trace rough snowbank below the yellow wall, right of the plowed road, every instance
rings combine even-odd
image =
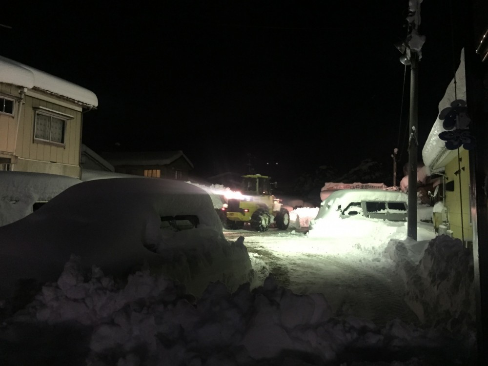
[[[392,240],[386,253],[405,281],[407,304],[424,325],[444,324],[460,333],[475,329],[473,253],[461,240]]]

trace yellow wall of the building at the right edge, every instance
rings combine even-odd
[[[445,174],[446,183],[454,182],[454,191],[446,191],[449,229],[452,230],[452,236],[454,238],[462,240],[464,236],[465,242],[472,241],[473,228],[471,224],[469,195],[469,155],[467,150],[464,148],[459,149],[459,159],[456,157],[446,165]]]

